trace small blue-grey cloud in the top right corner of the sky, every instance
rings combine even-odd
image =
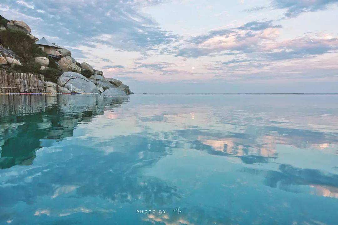
[[[272,5],[278,9],[286,9],[286,17],[297,17],[303,12],[314,12],[326,9],[330,4],[338,0],[273,0]]]

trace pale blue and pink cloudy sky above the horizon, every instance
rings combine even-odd
[[[338,92],[338,0],[2,0],[135,93]]]

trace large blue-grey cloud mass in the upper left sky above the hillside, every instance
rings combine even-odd
[[[157,45],[170,44],[178,38],[140,12],[141,7],[162,2],[36,0],[32,5],[24,1],[13,3],[5,0],[4,5],[10,6],[6,14],[8,19],[11,19],[11,12],[14,11],[25,13],[30,17],[44,11],[45,13],[39,13],[42,19],[39,26],[32,23],[28,25],[31,26],[33,34],[58,36],[60,45],[95,46],[104,43],[124,51],[146,51]],[[106,35],[107,38],[102,39],[102,35]]]

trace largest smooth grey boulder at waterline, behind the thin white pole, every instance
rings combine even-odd
[[[70,76],[72,80],[70,80]],[[99,90],[93,82],[83,75],[75,72],[65,72],[58,79],[57,84],[72,90],[73,93],[95,93],[99,94]]]

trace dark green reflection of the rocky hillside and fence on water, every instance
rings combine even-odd
[[[105,107],[128,101],[129,96],[1,95],[0,168],[31,165],[39,148],[71,137],[78,123],[102,115]]]

